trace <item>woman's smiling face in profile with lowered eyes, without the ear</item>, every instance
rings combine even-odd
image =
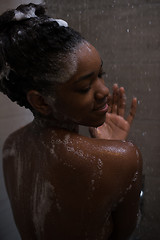
[[[60,121],[97,127],[105,121],[108,108],[102,60],[87,42],[77,47],[76,57],[77,71],[56,88],[53,114]]]

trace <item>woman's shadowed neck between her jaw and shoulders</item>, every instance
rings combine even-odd
[[[79,132],[79,125],[73,122],[59,121],[54,118],[35,116],[34,125],[39,128],[61,128],[70,132]]]

